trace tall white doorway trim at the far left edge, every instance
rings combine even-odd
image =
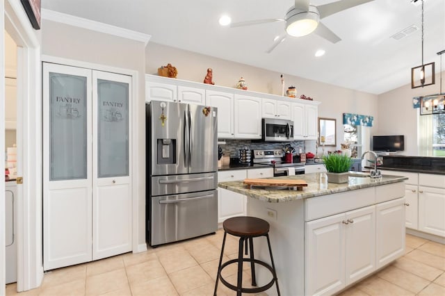
[[[17,290],[29,290],[40,286],[42,268],[42,128],[40,108],[40,44],[22,3],[16,0],[2,1],[0,6],[1,35],[4,29],[16,42],[17,50],[17,173],[24,183],[17,186]],[[3,19],[4,16],[4,19]],[[1,42],[4,48],[3,42]],[[3,57],[1,58],[3,60]],[[1,70],[3,73],[4,69]],[[1,75],[4,76],[4,73]],[[1,79],[3,81],[3,79]],[[3,86],[0,87],[3,89]],[[2,92],[3,93],[3,92]],[[4,116],[0,116],[4,120]],[[4,130],[0,135],[4,137]],[[0,163],[3,170],[4,161]],[[3,195],[4,190],[0,192]],[[1,206],[4,211],[4,206]],[[4,225],[4,224],[3,224]],[[3,236],[2,236],[3,237]],[[2,244],[4,246],[4,243]],[[4,247],[3,254],[4,254]],[[4,272],[4,261],[1,259]],[[4,294],[4,277],[0,279],[0,294]]]

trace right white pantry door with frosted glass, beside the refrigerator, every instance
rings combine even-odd
[[[131,76],[92,72],[92,260],[130,252]]]

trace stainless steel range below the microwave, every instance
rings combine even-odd
[[[273,176],[287,176],[289,168],[291,168],[290,171],[295,170],[295,174],[305,174],[305,162],[284,162],[284,152],[280,149],[254,150],[253,155],[254,164],[273,167]]]

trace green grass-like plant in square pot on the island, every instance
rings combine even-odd
[[[327,170],[327,181],[330,183],[347,183],[348,170],[354,161],[349,156],[332,153],[323,155],[323,162]]]

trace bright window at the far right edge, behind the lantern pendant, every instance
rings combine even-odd
[[[419,154],[445,156],[445,113],[419,115]]]

